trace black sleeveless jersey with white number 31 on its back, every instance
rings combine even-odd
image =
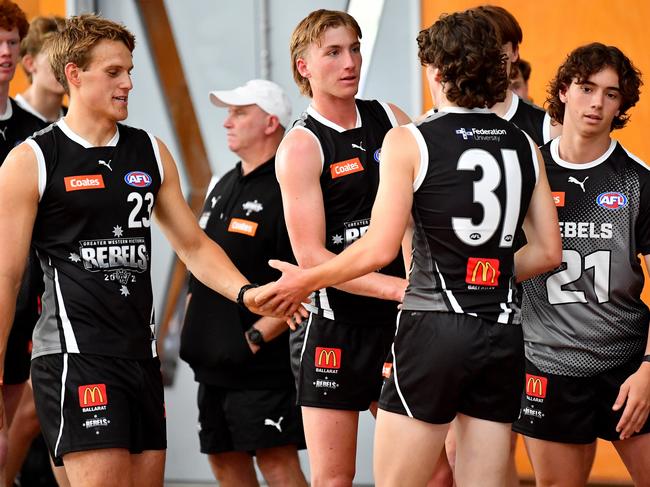
[[[447,108],[407,127],[420,166],[402,308],[520,323],[513,244],[537,183],[534,143],[484,109]]]

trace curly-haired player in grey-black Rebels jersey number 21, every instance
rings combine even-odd
[[[639,100],[640,73],[616,47],[569,54],[551,82],[563,134],[542,148],[562,233],[562,265],[524,282],[526,389],[514,429],[537,485],[585,485],[596,438],[635,485],[650,485],[650,172],[611,139]]]

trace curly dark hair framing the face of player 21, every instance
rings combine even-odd
[[[632,64],[632,61],[615,46],[606,46],[600,42],[587,44],[573,50],[566,61],[557,70],[555,78],[551,80],[546,98],[548,114],[556,122],[564,122],[564,103],[560,100],[560,93],[564,93],[572,82],[585,83],[589,76],[605,68],[612,68],[618,74],[618,87],[621,93],[621,107],[610,130],[625,127],[630,119],[627,111],[639,101],[641,72]]]

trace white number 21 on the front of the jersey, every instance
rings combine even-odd
[[[586,303],[584,291],[568,291],[563,289],[563,286],[576,282],[588,269],[593,269],[594,293],[598,303],[609,301],[610,254],[609,250],[598,250],[585,256],[583,261],[577,250],[563,250],[562,262],[566,264],[566,269],[552,274],[546,280],[548,302],[551,304]]]

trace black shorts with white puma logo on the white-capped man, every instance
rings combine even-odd
[[[285,389],[224,389],[199,384],[201,453],[248,452],[295,445],[305,448],[293,386]]]

